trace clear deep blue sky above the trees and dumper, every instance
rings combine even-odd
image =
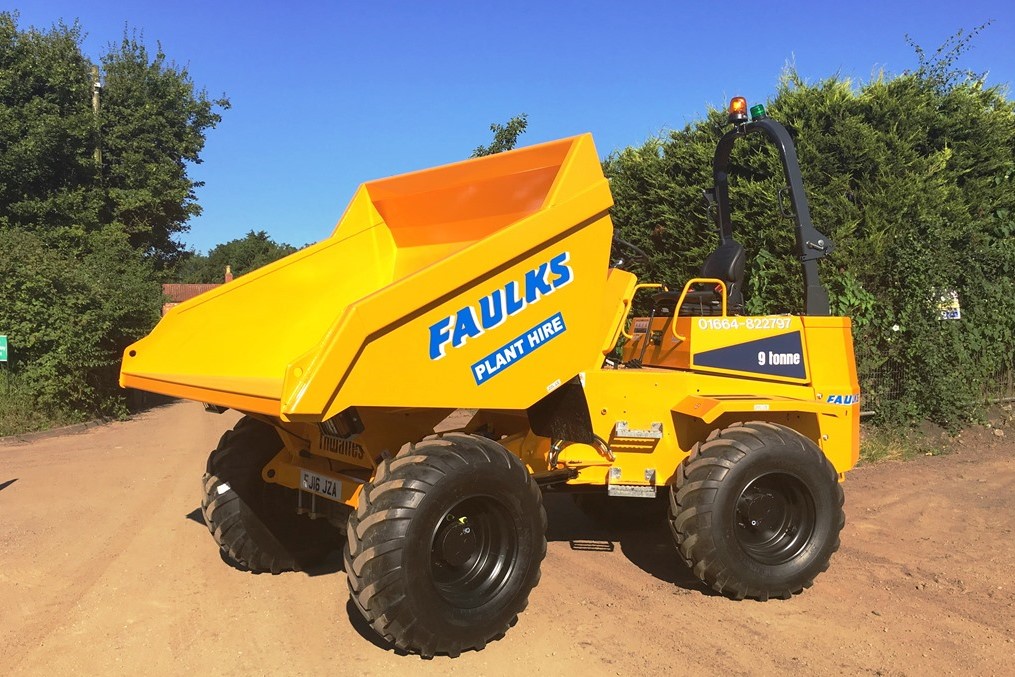
[[[232,108],[208,133],[199,251],[267,230],[329,234],[363,181],[467,157],[489,125],[529,115],[524,145],[591,131],[638,144],[709,106],[774,92],[787,63],[814,81],[869,80],[917,64],[989,19],[959,63],[1015,80],[1015,3],[430,0],[110,2],[22,0],[20,25],[79,19],[97,61],[125,25],[159,42]],[[1009,94],[1011,95],[1011,94]]]

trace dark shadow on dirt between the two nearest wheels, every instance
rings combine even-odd
[[[718,595],[680,559],[665,518],[632,522],[629,526],[602,524],[585,515],[571,496],[563,493],[544,494],[543,505],[547,541],[568,542],[571,550],[588,552],[590,560],[619,547],[628,561],[660,581],[708,597]]]

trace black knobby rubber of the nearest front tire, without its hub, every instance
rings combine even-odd
[[[504,595],[459,608],[431,594],[436,584],[426,558],[442,521],[433,517],[477,492],[512,506],[520,555],[500,588]],[[481,436],[427,437],[382,461],[360,493],[346,530],[350,597],[374,630],[401,651],[429,658],[481,650],[526,608],[539,583],[545,532],[542,495],[518,458]]]

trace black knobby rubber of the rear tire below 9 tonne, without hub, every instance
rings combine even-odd
[[[751,476],[784,470],[806,479],[817,524],[813,542],[800,556],[765,565],[737,546],[735,527],[721,524],[717,514],[732,515],[730,501]],[[812,441],[773,423],[736,423],[695,445],[678,468],[670,492],[670,529],[684,563],[713,590],[736,600],[789,599],[828,568],[845,524],[843,500],[835,470]]]

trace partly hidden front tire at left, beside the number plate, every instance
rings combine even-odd
[[[326,520],[296,515],[293,489],[261,477],[281,450],[274,427],[244,417],[208,457],[202,481],[208,530],[228,559],[255,573],[302,570],[342,542]]]

